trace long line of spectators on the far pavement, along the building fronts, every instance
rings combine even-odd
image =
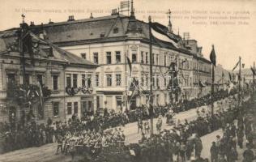
[[[224,98],[227,95],[226,92],[217,92],[215,94],[215,100]],[[201,105],[202,100],[207,100],[207,97],[203,99],[195,99],[190,102],[196,103],[196,105]],[[188,102],[184,101],[181,105],[186,105]],[[177,105],[178,107],[178,105]],[[166,106],[156,106],[154,107],[154,117],[159,115],[164,116],[169,109],[174,109],[175,107]],[[190,107],[190,109],[195,107]],[[175,110],[175,109],[174,109]],[[183,111],[180,109],[179,111]],[[139,107],[135,111],[125,111],[124,113],[115,113],[113,111],[108,111],[104,109],[104,114],[95,113],[93,115],[84,115],[79,120],[77,117],[72,117],[68,122],[53,122],[50,118],[46,124],[38,124],[33,119],[32,112],[29,112],[29,117],[21,117],[19,122],[11,123],[0,123],[0,134],[2,151],[13,151],[25,147],[40,147],[45,143],[53,143],[56,141],[59,132],[66,132],[67,130],[96,130],[102,131],[110,127],[125,126],[129,122],[138,122],[139,119],[148,119],[149,115],[147,113],[146,107]],[[24,118],[27,118],[26,120]],[[26,121],[26,122],[25,122]],[[75,124],[72,124],[75,123]],[[146,123],[147,124],[147,123]],[[147,131],[149,127],[147,125]],[[65,133],[61,133],[64,135]]]

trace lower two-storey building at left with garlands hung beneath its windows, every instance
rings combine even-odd
[[[82,117],[93,111],[96,92],[89,88],[79,91],[79,87],[94,86],[85,78],[95,75],[97,65],[31,31],[27,32],[31,49],[23,45],[23,58],[19,32],[17,28],[0,34],[0,122],[29,116],[42,122],[48,117],[67,121],[72,114]]]

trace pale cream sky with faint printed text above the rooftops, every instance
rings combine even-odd
[[[19,27],[24,14],[25,22],[35,24],[87,19],[110,15],[120,7],[120,0],[0,0],[0,31]],[[203,56],[209,58],[215,46],[217,64],[231,70],[239,56],[245,68],[256,62],[256,1],[254,0],[134,0],[136,19],[168,25],[166,14],[172,11],[173,32],[183,37],[190,32],[190,39],[203,46]],[[123,15],[127,15],[127,11]]]

